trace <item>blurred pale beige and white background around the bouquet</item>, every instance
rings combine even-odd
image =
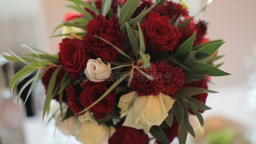
[[[191,15],[195,15],[207,0],[185,1],[190,6]],[[256,143],[256,16],[254,11],[256,1],[208,0],[208,2],[212,3],[197,19],[209,22],[208,38],[227,41],[219,50],[220,55],[225,55],[219,60],[225,61],[220,69],[232,75],[212,77],[215,85],[210,84],[209,89],[220,93],[209,94],[206,104],[213,109],[204,112],[206,125],[204,130],[198,129],[198,133],[201,132],[202,136],[197,139],[196,143],[205,143],[206,138],[214,141],[217,137],[223,139],[223,144],[253,144]],[[20,48],[22,43],[48,53],[58,52],[61,38],[49,38],[49,36],[52,35],[52,31],[60,24],[60,21],[64,20],[65,14],[72,12],[64,8],[66,4],[68,2],[63,0],[1,0],[0,52],[8,52],[6,48],[9,48],[14,53],[22,55]],[[3,58],[0,57],[1,60]],[[5,73],[10,71],[6,65],[2,66],[3,64],[0,63],[3,71]],[[20,64],[14,64],[14,70],[21,67]],[[9,77],[11,76],[10,71]],[[4,86],[7,82],[4,79],[8,81],[8,76],[1,77],[0,89],[3,89],[2,95],[6,96],[8,92],[5,91]],[[11,118],[13,116],[17,127],[20,126],[20,131],[16,132],[17,141],[23,140],[26,144],[75,143],[73,137],[63,136],[58,130],[54,137],[54,124],[46,124],[45,121],[43,123],[41,110],[44,90],[42,87],[42,84],[37,84],[37,89],[32,93],[32,100],[27,101],[28,103],[33,101],[33,105],[31,108],[27,106],[27,110],[22,109],[25,107],[23,104],[20,104],[21,109],[0,104],[0,141],[3,136],[8,137],[8,133],[3,132],[8,126],[1,125],[1,119],[3,123],[3,116],[6,114],[2,111],[14,108],[20,116],[6,115]],[[34,109],[34,111],[28,109]],[[29,117],[19,119],[23,115]],[[188,143],[195,143],[195,140],[189,139]]]

